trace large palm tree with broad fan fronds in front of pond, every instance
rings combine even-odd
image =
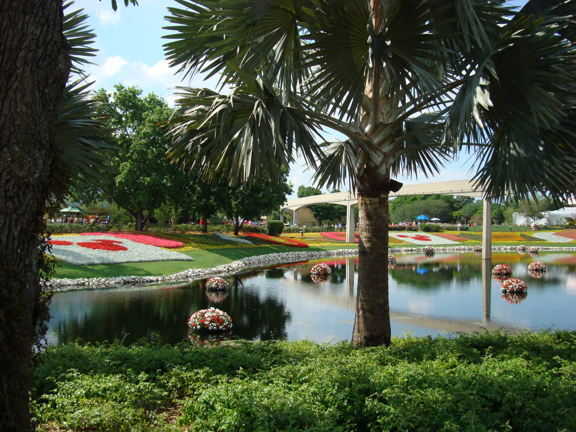
[[[392,177],[465,151],[490,198],[574,191],[573,0],[176,1],[170,66],[232,90],[177,89],[169,156],[250,184],[301,154],[319,185],[357,192],[354,344],[390,343]]]

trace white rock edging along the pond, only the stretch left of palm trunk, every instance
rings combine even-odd
[[[80,290],[90,288],[109,288],[123,285],[149,285],[151,283],[194,281],[209,276],[226,276],[247,268],[262,267],[274,264],[295,263],[298,261],[331,256],[358,255],[358,249],[337,249],[335,251],[317,252],[282,252],[267,253],[266,255],[248,256],[229,264],[212,268],[190,268],[172,275],[162,276],[118,276],[117,278],[79,278],[79,279],[50,279],[47,285],[54,291]]]

